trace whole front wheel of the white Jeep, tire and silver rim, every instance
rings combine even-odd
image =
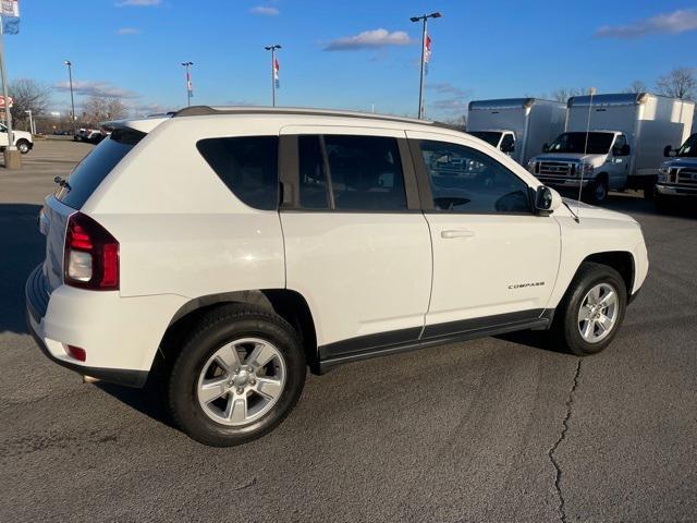
[[[577,356],[602,351],[616,336],[626,303],[626,284],[616,270],[584,263],[557,311],[552,341]]]

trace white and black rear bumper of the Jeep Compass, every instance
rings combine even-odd
[[[61,285],[50,296],[41,266],[25,285],[26,319],[39,349],[51,361],[84,376],[129,387],[143,387],[170,319],[186,301],[182,296],[121,297]],[[86,351],[71,357],[65,345]]]

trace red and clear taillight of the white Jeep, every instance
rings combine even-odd
[[[68,221],[63,281],[95,291],[119,290],[119,242],[82,212]]]

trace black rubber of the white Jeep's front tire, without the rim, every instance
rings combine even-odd
[[[596,285],[607,283],[613,288],[617,295],[617,317],[606,338],[596,343],[587,342],[578,327],[578,312],[586,294]],[[577,356],[596,354],[608,346],[624,319],[627,304],[626,283],[620,273],[607,265],[586,262],[582,264],[574,276],[564,299],[554,314],[554,321],[550,329],[550,338],[553,346],[565,349]]]

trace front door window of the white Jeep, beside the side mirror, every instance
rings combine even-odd
[[[531,212],[528,185],[490,156],[458,144],[420,142],[438,210]]]

